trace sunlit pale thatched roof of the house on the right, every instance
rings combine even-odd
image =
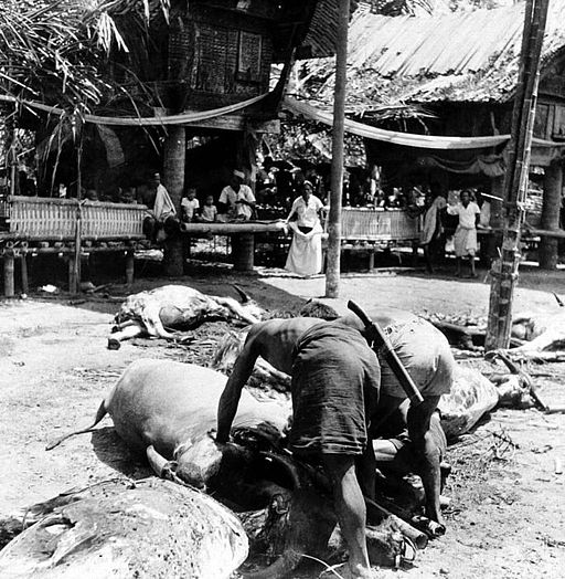
[[[443,17],[395,17],[361,6],[350,25],[348,108],[391,103],[510,99],[518,80],[524,3]],[[542,62],[565,48],[565,0],[551,0]],[[297,64],[310,98],[333,98],[333,59]]]

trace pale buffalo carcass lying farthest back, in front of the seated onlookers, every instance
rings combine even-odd
[[[234,285],[242,302],[233,297],[207,295],[185,285],[164,285],[132,294],[121,304],[114,320],[108,348],[118,349],[120,341],[149,335],[174,338],[170,329],[188,329],[212,318],[259,322],[265,310]]]

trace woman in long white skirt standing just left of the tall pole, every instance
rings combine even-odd
[[[320,212],[323,203],[312,194],[313,186],[310,181],[305,180],[300,188],[301,194],[295,199],[287,218],[292,230],[292,243],[285,269],[300,275],[313,275],[322,271],[323,230]]]

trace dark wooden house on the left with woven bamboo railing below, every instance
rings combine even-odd
[[[139,186],[157,171],[162,173],[177,206],[185,183],[196,186],[201,196],[213,192],[217,197],[234,168],[244,169],[253,185],[257,135],[278,130],[278,110],[290,64],[300,53],[329,55],[334,51],[340,2],[172,0],[168,21],[159,2],[149,6],[152,12],[147,30],[128,20],[131,13],[127,7],[115,14],[129,50],[116,48],[109,55],[103,72],[113,78],[114,91],[105,95],[96,110],[84,116],[81,180],[70,127],[63,127],[53,139],[53,127],[45,123],[45,118],[57,118],[57,103],[28,103],[31,109],[46,108],[53,114],[41,117],[36,112],[23,113],[20,119],[20,126],[36,133],[41,162],[57,168],[54,178],[43,171],[40,194],[49,196],[52,185],[58,191],[61,182],[76,197],[82,182],[85,190],[96,190],[104,201],[116,201],[120,189]],[[275,62],[286,67],[271,90]],[[50,105],[55,108],[50,109]],[[30,252],[68,255],[74,276],[70,285],[76,285],[76,261],[84,249],[77,207],[83,208],[76,199],[38,203],[12,197],[2,202],[0,256],[8,280],[7,295],[14,291],[14,257],[21,257],[22,280],[26,280],[25,255]],[[139,211],[130,208],[116,209],[98,201],[90,208],[87,203],[82,223],[89,253],[96,249],[127,252],[128,278],[132,275],[132,252],[142,238],[143,213],[139,206]],[[226,234],[236,234],[232,229]],[[241,231],[244,229],[242,225]],[[246,235],[246,243],[238,244],[246,248],[246,259],[239,260],[243,269],[253,265],[249,228]],[[52,240],[56,240],[57,248],[50,246]],[[23,253],[14,250],[14,243],[24,244]],[[182,274],[179,246],[168,246],[166,254],[174,257],[166,260],[167,273]]]

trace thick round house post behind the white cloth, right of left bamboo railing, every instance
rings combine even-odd
[[[163,182],[180,214],[184,190],[184,161],[186,156],[186,135],[184,127],[168,128],[169,135],[163,148]],[[184,270],[183,239],[179,233],[169,236],[164,245],[163,266],[169,277],[180,277]]]

